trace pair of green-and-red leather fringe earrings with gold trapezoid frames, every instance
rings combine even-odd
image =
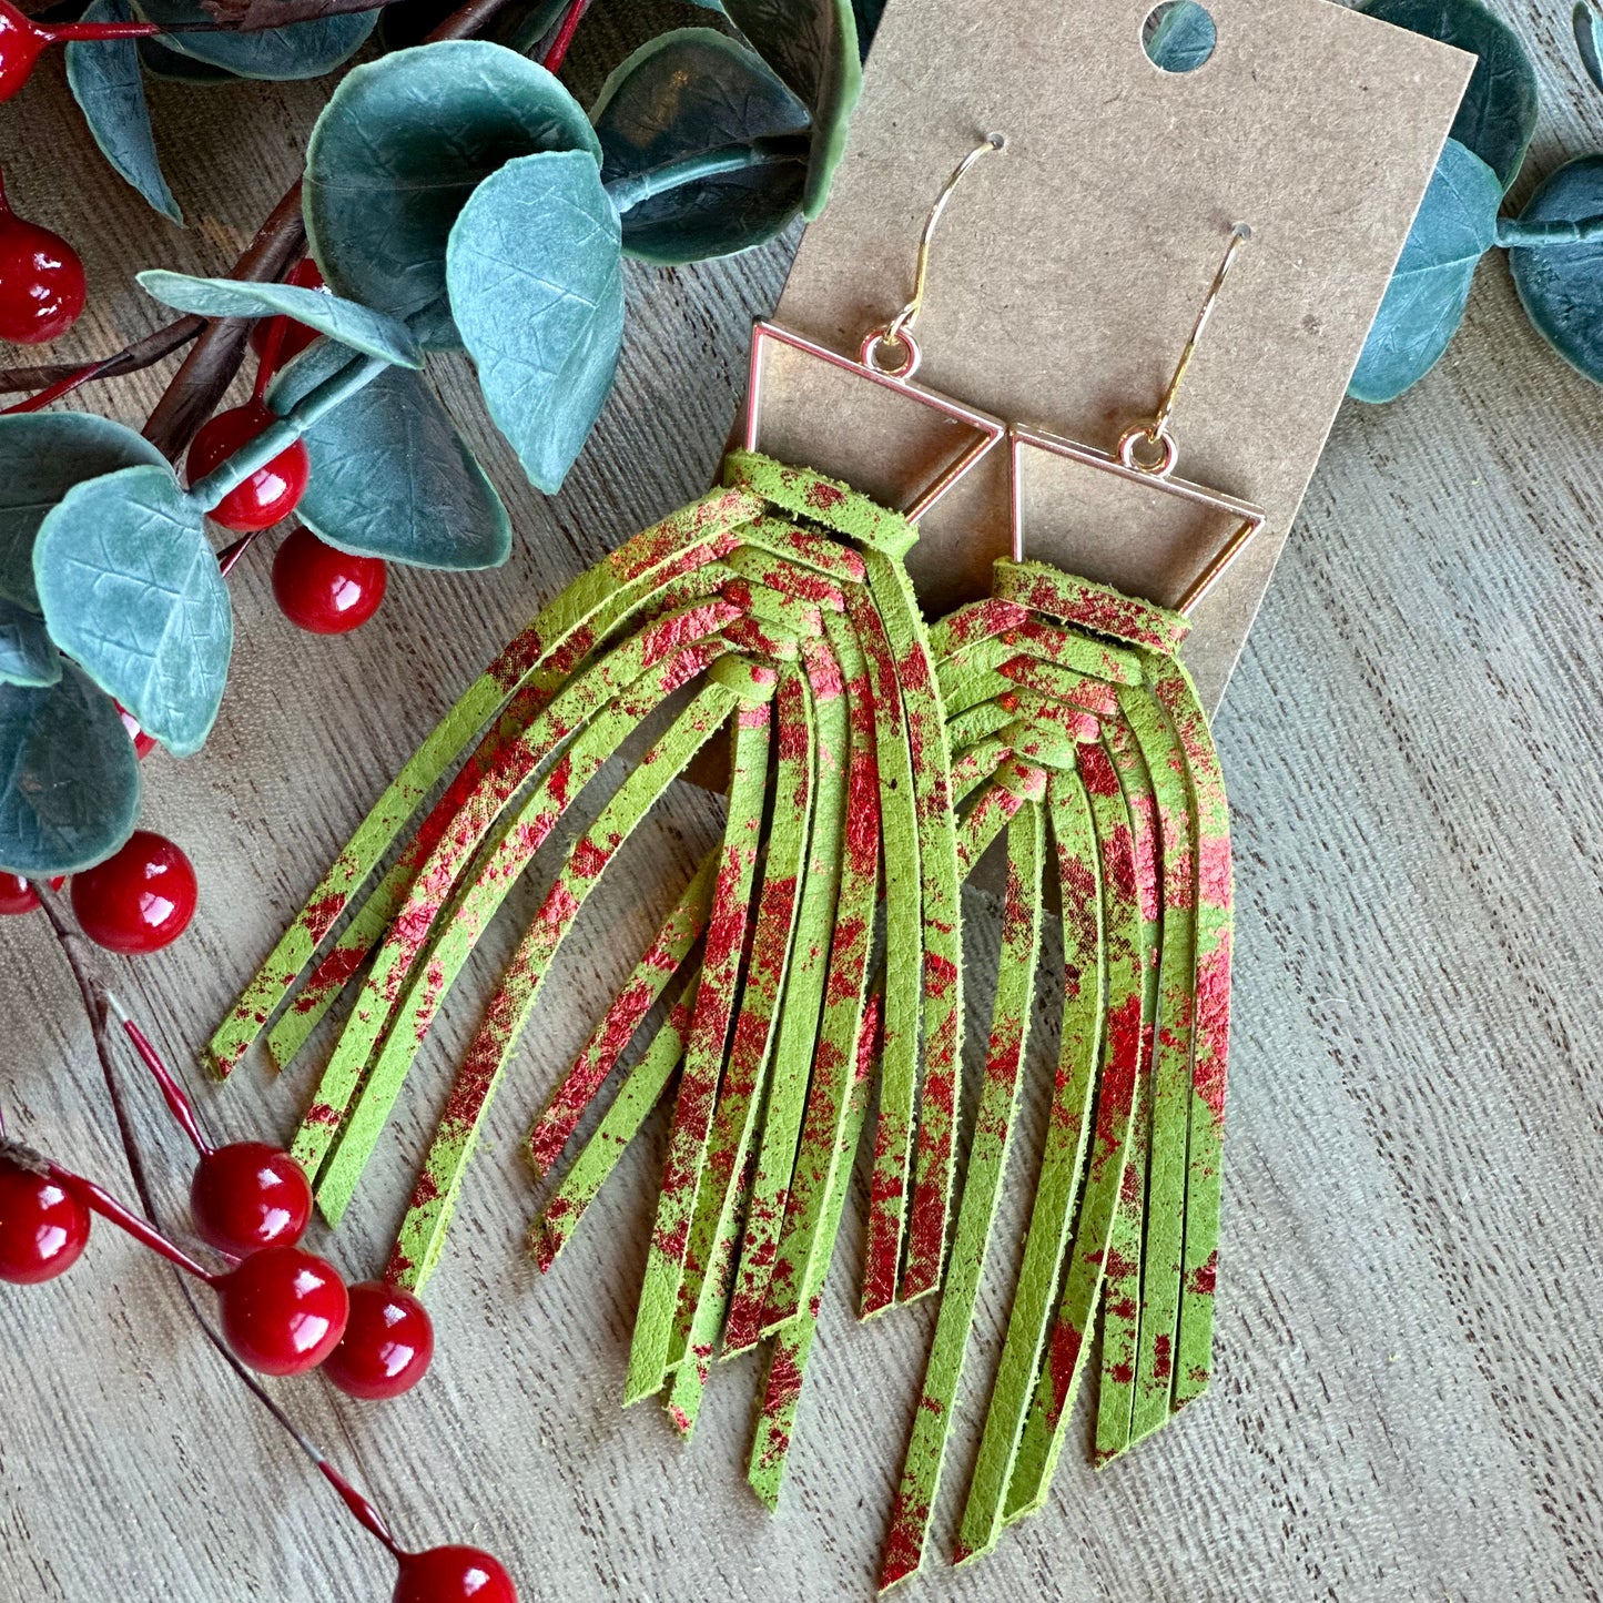
[[[567,846],[460,1064],[388,1268],[420,1289],[563,941],[670,782],[726,734],[723,837],[529,1133],[545,1180],[614,1087],[531,1247],[550,1268],[624,1148],[670,1103],[625,1401],[667,1393],[688,1435],[715,1353],[766,1342],[749,1478],[773,1507],[877,1100],[862,1313],[946,1281],[886,1585],[922,1561],[1008,1162],[1047,872],[1063,902],[1063,1034],[959,1557],[1044,1502],[1098,1313],[1100,1454],[1196,1396],[1212,1348],[1230,845],[1207,721],[1175,657],[1183,619],[1021,561],[1016,529],[991,600],[930,632],[902,558],[917,516],[1003,438],[1016,513],[1024,449],[1242,511],[1189,600],[1258,515],[1172,478],[1169,407],[1196,333],[1154,422],[1111,455],[1008,430],[914,382],[930,234],[951,188],[995,147],[949,180],[914,300],[858,361],[758,324],[749,449],[728,458],[723,486],[574,580],[502,652],[375,803],[208,1048],[226,1076],[279,1013],[268,1048],[285,1066],[367,965],[293,1145],[337,1223],[502,901],[579,798],[606,789],[628,742],[646,744]],[[758,454],[773,340],[936,407],[975,444],[907,513]],[[1002,834],[1000,983],[947,1250],[960,885]]]

